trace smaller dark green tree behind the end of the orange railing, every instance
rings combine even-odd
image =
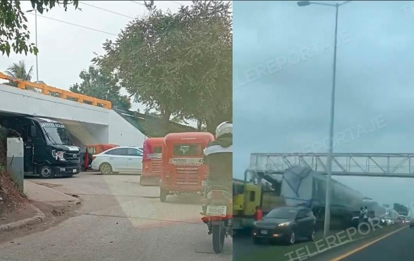
[[[82,82],[73,84],[69,88],[71,92],[108,100],[112,106],[117,106],[119,109],[129,110],[131,108],[130,99],[120,94],[121,88],[116,84],[117,78],[102,68],[90,66],[88,71],[83,70],[79,77]]]

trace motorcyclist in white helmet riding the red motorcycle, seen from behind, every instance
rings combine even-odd
[[[225,121],[216,128],[216,140],[203,151],[209,167],[209,175],[204,187],[204,198],[211,186],[226,187],[232,191],[233,178],[233,123]],[[203,206],[203,212],[205,212]]]

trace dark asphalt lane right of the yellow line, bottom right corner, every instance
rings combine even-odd
[[[343,261],[411,261],[414,260],[414,229],[404,228],[355,254]]]

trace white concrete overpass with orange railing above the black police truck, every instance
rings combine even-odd
[[[142,131],[111,110],[108,101],[12,79],[1,73],[0,78],[17,85],[0,82],[0,115],[32,115],[62,122],[81,148],[97,143],[141,147],[144,142]]]

